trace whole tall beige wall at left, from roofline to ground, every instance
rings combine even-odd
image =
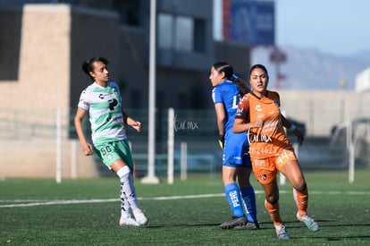
[[[9,64],[17,67],[16,74],[6,77],[12,80],[0,78],[0,177],[55,177],[57,109],[63,125],[63,177],[71,177],[71,7],[26,4],[4,13],[9,14],[0,14],[0,23],[15,20],[18,30],[6,33],[11,25],[1,25],[1,32],[11,36],[2,35],[1,49],[18,49],[19,61]],[[17,33],[21,38],[12,42]],[[78,175],[97,176],[93,158],[82,158],[79,147]]]

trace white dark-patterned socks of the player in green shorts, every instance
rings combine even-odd
[[[123,166],[117,171],[117,175],[121,181],[121,216],[130,216],[130,208],[132,210],[139,208],[130,167]]]

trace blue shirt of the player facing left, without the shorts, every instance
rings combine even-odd
[[[212,99],[214,105],[222,103],[225,108],[225,136],[229,131],[232,131],[234,118],[240,101],[239,90],[236,84],[232,81],[223,81],[221,84],[214,87],[212,90]]]

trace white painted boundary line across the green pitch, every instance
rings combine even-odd
[[[256,194],[263,194],[263,191],[255,191]],[[291,193],[291,191],[280,191],[281,194]],[[310,194],[325,194],[325,195],[366,195],[370,196],[370,191],[309,191]],[[169,200],[169,199],[203,199],[224,197],[224,193],[219,194],[201,194],[201,195],[184,195],[184,196],[168,196],[154,198],[138,198],[139,200]],[[36,207],[48,205],[68,205],[81,203],[99,203],[99,202],[117,202],[117,199],[15,199],[15,200],[0,200],[0,203],[13,202],[13,204],[0,205],[0,208],[20,208],[20,207]],[[15,202],[15,203],[14,203]]]

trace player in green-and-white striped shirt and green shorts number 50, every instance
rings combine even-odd
[[[107,64],[108,61],[101,57],[91,58],[82,64],[82,70],[93,83],[81,92],[74,124],[85,156],[96,153],[120,178],[122,205],[119,224],[146,225],[147,216],[139,208],[133,184],[133,162],[125,130],[127,124],[139,132],[141,123],[122,110],[120,89],[114,81],[109,81]],[[83,131],[85,115],[88,115],[91,124],[93,145]]]

